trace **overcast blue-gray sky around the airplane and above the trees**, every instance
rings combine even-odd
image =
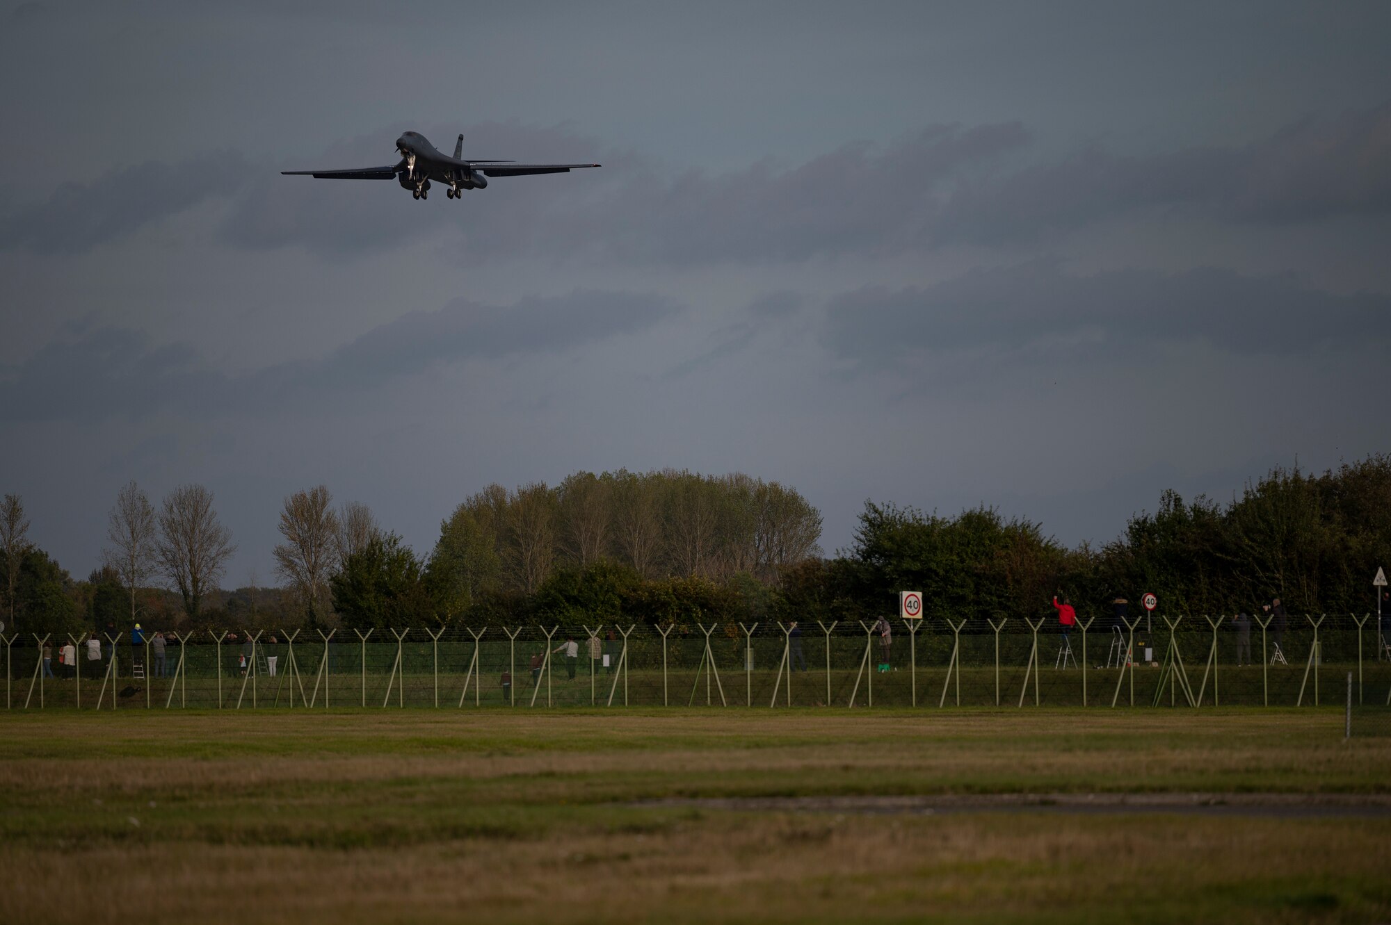
[[[417,550],[490,482],[744,471],[1066,543],[1391,449],[1385,3],[0,8],[0,490],[77,575],[203,482]],[[597,160],[460,203],[281,176]]]

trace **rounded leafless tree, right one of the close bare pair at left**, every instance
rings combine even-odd
[[[159,557],[164,575],[184,597],[184,612],[198,617],[203,596],[217,586],[236,547],[232,533],[213,511],[213,493],[182,485],[164,499],[159,515]]]

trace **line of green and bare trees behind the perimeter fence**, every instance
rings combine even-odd
[[[7,632],[159,615],[179,626],[481,625],[530,619],[874,619],[896,593],[928,617],[1079,614],[1116,597],[1166,612],[1230,614],[1281,597],[1291,612],[1374,610],[1391,564],[1391,456],[1323,474],[1276,468],[1223,504],[1164,492],[1114,540],[1067,547],[992,507],[957,515],[867,501],[853,543],[826,557],[821,514],[794,489],[743,474],[577,472],[559,485],[490,485],[444,518],[428,554],[324,486],[295,492],[273,550],[281,588],[218,588],[235,551],[211,493],[159,507],[132,482],[108,515],[103,567],[74,582],[0,504]],[[211,601],[211,607],[209,607]]]

